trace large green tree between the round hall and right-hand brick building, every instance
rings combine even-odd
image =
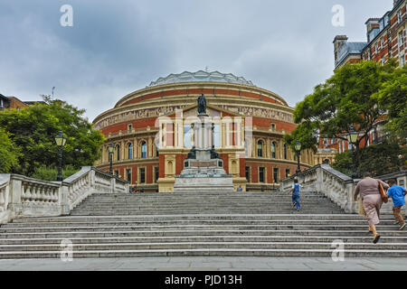
[[[299,138],[303,148],[316,148],[317,136],[346,140],[350,126],[359,132],[356,148],[383,117],[386,107],[377,102],[376,94],[383,83],[394,77],[396,64],[388,61],[384,66],[374,61],[347,64],[314,93],[299,102],[294,111],[298,124],[285,141],[294,146]]]

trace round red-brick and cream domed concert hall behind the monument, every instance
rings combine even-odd
[[[296,172],[297,154],[282,139],[296,127],[294,109],[242,77],[203,70],[159,78],[96,117],[94,128],[107,141],[95,166],[109,172],[111,157],[112,172],[137,191],[173,191],[194,145],[191,124],[201,95],[214,123],[215,150],[235,188],[275,190],[279,180]],[[313,152],[301,151],[301,170],[312,165]]]

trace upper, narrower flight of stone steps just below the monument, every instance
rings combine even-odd
[[[316,192],[301,194],[301,213],[344,213]],[[199,192],[94,194],[71,212],[75,216],[156,214],[295,214],[291,196],[281,192]]]

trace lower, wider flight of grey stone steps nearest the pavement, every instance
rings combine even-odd
[[[372,243],[358,215],[150,215],[15,219],[0,227],[0,258],[131,256],[407,256],[407,230],[390,216]]]

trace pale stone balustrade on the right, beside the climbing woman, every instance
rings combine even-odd
[[[289,191],[294,184],[294,178],[298,178],[303,191],[317,191],[324,193],[328,199],[335,202],[346,213],[357,213],[358,202],[354,200],[355,183],[358,180],[346,176],[342,172],[337,172],[327,163],[316,166],[293,175],[280,182],[280,191]],[[354,182],[355,181],[355,182]]]

